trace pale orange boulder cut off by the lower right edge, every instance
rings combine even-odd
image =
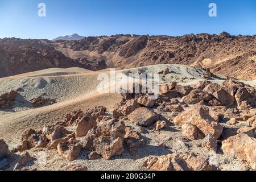
[[[256,169],[256,139],[246,134],[237,134],[222,142],[222,151],[230,158],[244,161]]]

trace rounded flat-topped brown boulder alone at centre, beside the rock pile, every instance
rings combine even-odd
[[[158,114],[146,107],[139,107],[129,115],[129,119],[138,126],[150,126],[158,121]]]

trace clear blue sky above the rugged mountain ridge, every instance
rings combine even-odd
[[[39,18],[38,4],[47,16]],[[209,17],[209,3],[217,17]],[[184,35],[256,34],[255,0],[0,0],[0,38],[53,39],[77,33]]]

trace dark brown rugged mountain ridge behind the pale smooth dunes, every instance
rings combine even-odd
[[[256,36],[113,35],[81,40],[0,39],[0,77],[47,68],[136,68],[183,64],[216,74],[256,80]]]

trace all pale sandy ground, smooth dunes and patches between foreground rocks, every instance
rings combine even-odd
[[[208,74],[201,69],[183,65],[152,65],[143,68],[116,70],[115,74],[119,73],[122,78],[117,80],[115,84],[126,82],[128,77],[133,77],[136,80],[139,76],[138,72],[150,75],[150,73],[158,73],[166,68],[169,68],[171,73],[160,75],[159,82],[161,83],[176,81],[178,84],[183,85],[196,84],[200,80],[205,80],[204,76]],[[45,125],[63,121],[65,115],[73,110],[86,110],[95,106],[105,106],[109,111],[112,111],[114,104],[120,102],[122,98],[118,93],[101,94],[97,92],[97,86],[100,82],[97,77],[100,73],[110,76],[110,69],[93,72],[82,68],[53,68],[1,78],[0,94],[11,90],[19,90],[19,94],[13,109],[0,110],[0,138],[4,139],[10,148],[14,148],[20,143],[20,136],[24,130],[30,128],[42,129]],[[133,75],[129,75],[131,73]],[[210,76],[209,78],[212,82],[217,82],[218,84],[224,81],[222,77]],[[256,81],[244,82],[256,85]],[[29,101],[39,96],[54,98],[57,103],[33,108]],[[126,125],[131,125],[131,123],[126,123]],[[131,126],[136,128],[134,125]],[[138,128],[136,129],[139,130]],[[176,131],[179,130],[170,125],[167,130],[161,133],[144,134],[143,137],[149,141],[149,144],[139,150],[138,154],[141,156],[168,154],[170,149],[162,150],[158,147],[160,143],[165,143],[171,148],[172,152],[193,151],[196,154],[208,155],[207,157],[219,163],[218,166],[221,166],[221,169],[240,169],[241,162],[226,158],[223,155],[209,154],[209,152],[204,154],[200,148],[195,147],[197,145],[196,142],[187,143],[180,132]],[[38,154],[36,150],[31,150],[30,152],[35,157]],[[57,155],[56,151],[47,151],[47,158],[48,163],[46,166],[40,166],[35,163],[34,167],[41,170],[57,170],[61,166],[68,164],[67,161]],[[129,154],[124,154],[122,157],[108,161],[86,160],[85,155],[72,163],[85,163],[92,170],[139,170],[143,169],[141,161],[142,158],[134,159]]]

